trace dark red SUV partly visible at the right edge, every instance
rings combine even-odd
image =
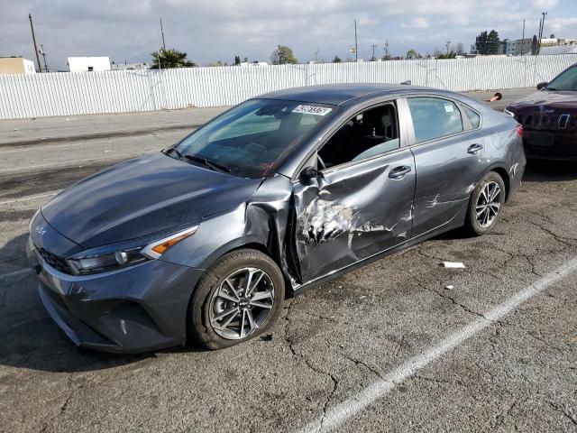
[[[527,158],[577,160],[577,64],[505,108],[523,125]]]

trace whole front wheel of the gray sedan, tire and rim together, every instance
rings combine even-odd
[[[188,339],[216,350],[258,336],[279,318],[284,293],[282,273],[268,255],[227,253],[198,281],[188,307]]]

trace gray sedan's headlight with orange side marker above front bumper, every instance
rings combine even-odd
[[[96,247],[70,257],[67,262],[76,275],[114,271],[158,259],[170,247],[194,235],[197,228],[198,226],[188,227],[160,239],[159,235],[155,238],[148,236],[134,241]]]

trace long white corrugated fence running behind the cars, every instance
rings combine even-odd
[[[0,119],[230,106],[281,88],[412,84],[465,91],[522,88],[554,78],[577,54],[0,75]]]

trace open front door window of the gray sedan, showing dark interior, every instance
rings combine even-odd
[[[388,103],[354,115],[318,152],[325,168],[398,149],[397,108]]]

